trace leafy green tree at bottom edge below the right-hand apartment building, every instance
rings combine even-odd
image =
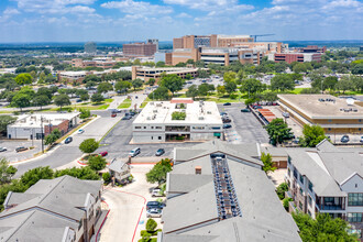
[[[348,233],[349,224],[342,219],[332,219],[329,213],[317,213],[314,220],[301,212],[293,213],[293,218],[300,230],[302,242],[356,242],[356,234]]]

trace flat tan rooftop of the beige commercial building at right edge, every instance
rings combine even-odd
[[[348,105],[346,99],[331,95],[278,95],[278,98],[310,119],[363,119],[363,107]]]

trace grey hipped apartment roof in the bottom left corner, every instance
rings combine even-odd
[[[70,176],[41,179],[25,193],[10,191],[0,213],[0,241],[62,241],[67,228],[78,230],[88,196],[98,196],[100,180]]]

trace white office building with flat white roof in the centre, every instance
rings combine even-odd
[[[185,113],[174,120],[174,112]],[[223,136],[223,123],[216,102],[189,98],[152,101],[132,124],[133,143],[207,141]]]

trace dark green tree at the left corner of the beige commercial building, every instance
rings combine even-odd
[[[280,144],[292,136],[292,129],[287,127],[283,119],[274,119],[266,125],[266,130],[273,145]]]

